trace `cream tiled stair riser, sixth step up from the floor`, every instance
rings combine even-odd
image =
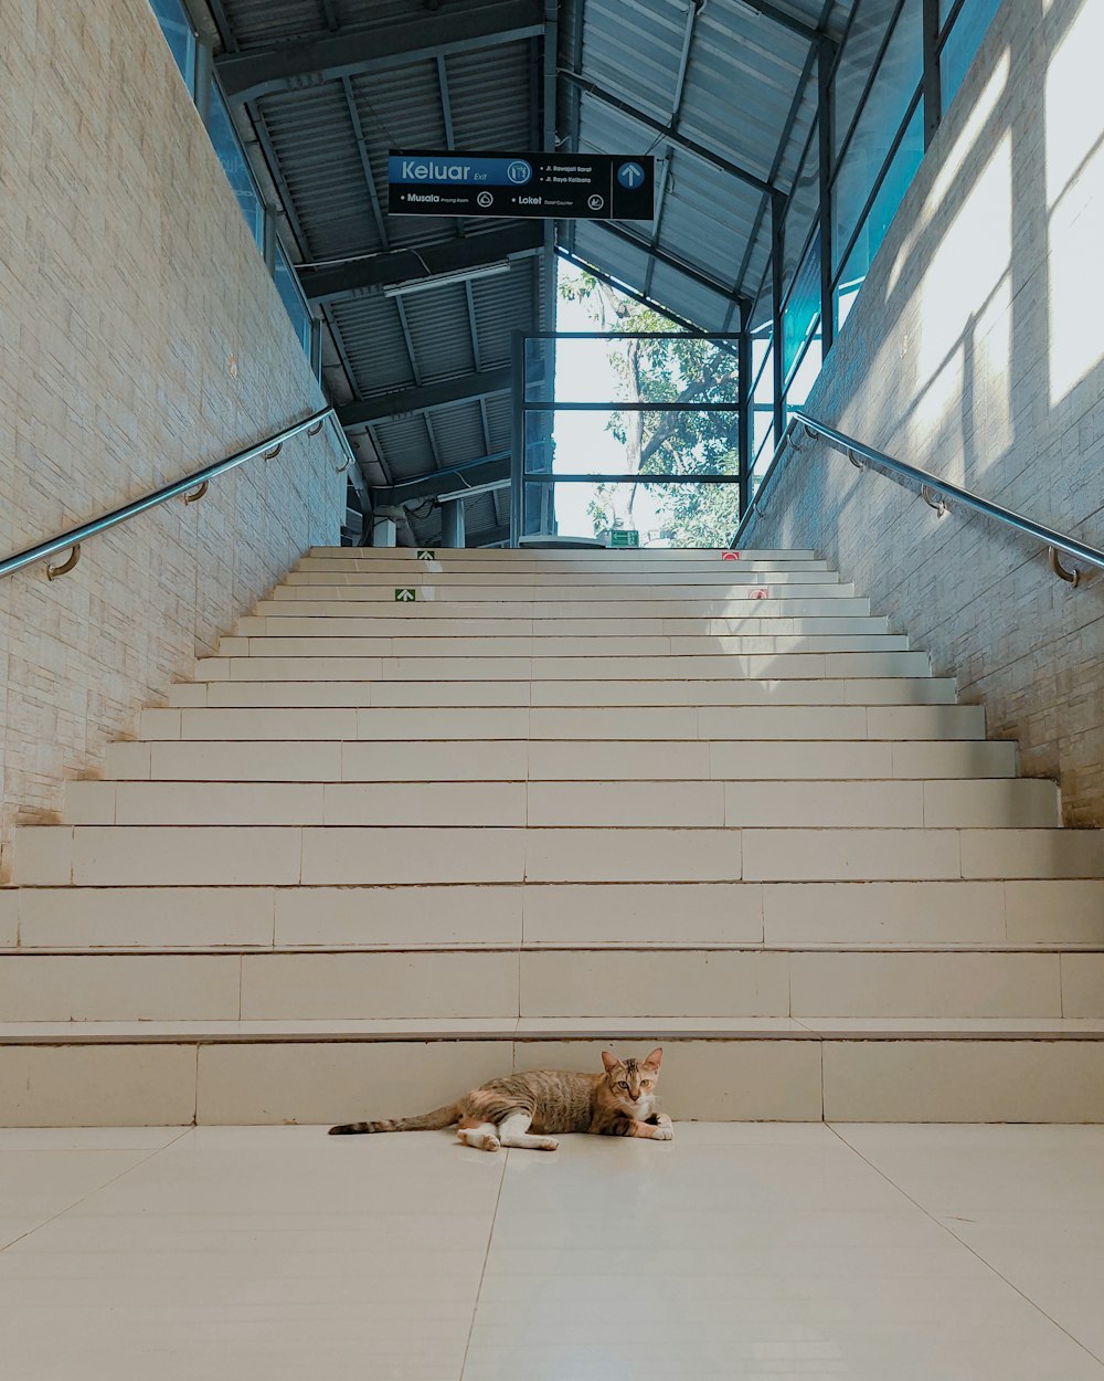
[[[155,782],[960,780],[1013,778],[1016,751],[1014,743],[984,739],[166,739],[113,743],[105,775]],[[84,793],[86,783],[69,790]]]

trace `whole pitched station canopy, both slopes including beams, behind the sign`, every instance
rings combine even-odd
[[[480,545],[506,536],[508,493],[491,486],[508,470],[512,334],[555,326],[559,258],[676,323],[747,325],[771,197],[810,195],[795,174],[817,52],[854,0],[204,4],[375,504],[402,507],[407,540],[425,545],[435,500],[471,489]],[[650,155],[656,217],[393,215],[392,149]]]

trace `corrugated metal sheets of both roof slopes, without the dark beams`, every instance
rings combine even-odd
[[[856,3],[771,0],[776,11],[835,37]],[[879,22],[875,11],[889,3],[864,0],[872,29]],[[217,8],[229,30],[228,47],[244,52],[294,51],[297,43],[334,32],[384,33],[411,22],[432,39],[436,10],[426,0],[219,0]],[[451,22],[486,8],[484,0],[448,0],[440,14]],[[763,191],[713,160],[792,193],[798,214],[787,261],[795,262],[816,204],[816,186],[799,177],[816,116],[814,44],[744,0],[564,0],[559,41],[560,66],[649,120],[672,124],[704,151],[701,156],[679,146],[647,120],[633,119],[631,109],[614,109],[560,81],[562,142],[609,153],[650,152],[665,181],[654,222],[564,222],[562,242],[679,318],[709,330],[736,329],[736,297],[755,297],[766,271],[770,217]],[[388,215],[386,157],[391,148],[443,149],[450,139],[473,152],[538,149],[540,101],[541,44],[530,39],[460,46],[439,61],[400,55],[382,70],[305,80],[297,90],[264,95],[250,113],[286,188],[288,221],[302,238],[299,257],[317,262],[493,239],[513,225]],[[575,123],[567,128],[564,122]],[[487,250],[493,258],[493,246]],[[555,264],[537,254],[515,261],[509,273],[475,278],[466,289],[406,294],[406,331],[396,301],[378,286],[331,300],[324,312],[334,338],[327,369],[348,376],[338,392],[370,399],[509,365],[512,333],[541,326],[553,275]],[[428,425],[421,413],[374,425],[389,478],[413,478],[509,445],[508,396],[436,406],[426,416]],[[498,500],[472,500],[469,532],[497,526],[501,511]],[[432,539],[433,523],[433,515],[417,518],[418,537]]]

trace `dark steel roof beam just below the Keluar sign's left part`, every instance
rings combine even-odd
[[[381,291],[389,283],[436,278],[437,273],[464,273],[468,269],[495,264],[504,258],[523,258],[544,247],[540,221],[508,225],[491,235],[468,235],[444,244],[425,244],[417,250],[393,250],[367,258],[299,272],[308,301],[328,302],[337,297],[366,297]]]

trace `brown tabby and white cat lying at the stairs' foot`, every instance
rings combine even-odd
[[[330,1135],[439,1131],[460,1123],[460,1139],[479,1150],[498,1150],[500,1146],[556,1150],[559,1142],[549,1132],[566,1131],[671,1141],[671,1119],[656,1112],[656,1081],[662,1058],[658,1047],[643,1061],[617,1059],[603,1050],[604,1074],[574,1074],[562,1069],[508,1074],[421,1117],[345,1123],[331,1127]]]

